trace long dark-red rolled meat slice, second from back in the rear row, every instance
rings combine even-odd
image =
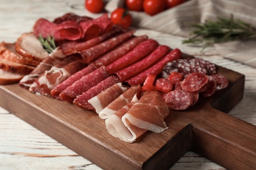
[[[96,46],[93,46],[87,50],[83,50],[79,52],[79,54],[83,56],[83,59],[85,60],[86,63],[89,63],[93,59],[104,54],[105,52],[112,50],[112,48],[114,48],[121,42],[125,41],[126,39],[129,39],[129,37],[131,37],[134,33],[135,33],[134,30],[121,33],[120,35],[116,35],[115,37],[107,41],[104,41]]]

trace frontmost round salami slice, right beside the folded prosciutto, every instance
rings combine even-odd
[[[184,90],[173,90],[164,95],[163,99],[169,108],[175,110],[188,109],[194,101],[192,95],[184,92]]]

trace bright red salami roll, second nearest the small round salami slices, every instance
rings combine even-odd
[[[140,59],[140,61],[136,63],[133,63],[133,65],[130,65],[128,67],[125,67],[124,69],[117,71],[116,75],[120,78],[121,81],[127,80],[127,78],[133,75],[137,75],[137,73],[140,73],[140,71],[143,71],[159,59],[163,58],[163,56],[165,56],[169,52],[169,50],[169,46],[158,46],[156,50],[154,50],[145,58]]]

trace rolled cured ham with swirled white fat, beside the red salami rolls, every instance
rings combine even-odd
[[[71,60],[68,62],[68,60]],[[64,66],[59,67],[61,64]],[[64,59],[61,63],[51,68],[49,71],[45,71],[43,75],[39,76],[32,86],[30,86],[30,92],[35,92],[41,95],[51,96],[51,90],[66,78],[70,77],[80,69],[85,67],[85,63],[81,58],[72,56]]]

